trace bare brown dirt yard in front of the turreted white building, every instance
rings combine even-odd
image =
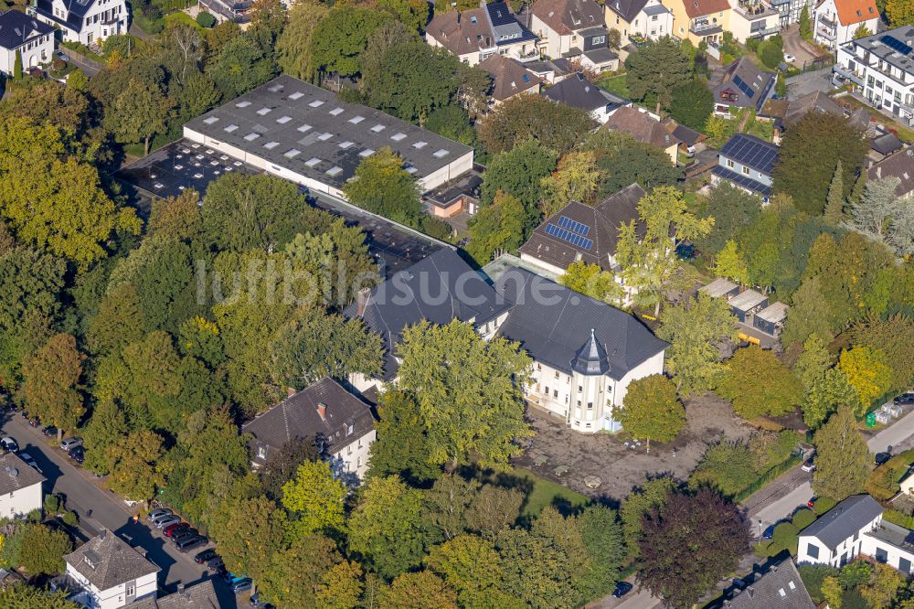
[[[717,396],[686,401],[685,413],[688,422],[679,437],[668,444],[652,443],[648,453],[644,443],[635,448],[626,447],[628,438],[624,433],[572,432],[564,422],[530,408],[527,415],[537,435],[526,452],[515,459],[515,464],[588,497],[616,503],[649,475],[668,473],[685,479],[707,445],[721,435],[729,440],[742,440],[753,431]],[[562,470],[567,473],[561,474]],[[600,486],[585,484],[585,479],[591,485],[594,483],[589,476],[599,478]]]

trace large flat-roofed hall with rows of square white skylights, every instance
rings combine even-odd
[[[186,123],[184,136],[345,199],[359,163],[389,147],[425,192],[473,169],[473,148],[282,76]]]

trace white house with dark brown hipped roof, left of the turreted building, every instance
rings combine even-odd
[[[261,412],[244,423],[241,431],[253,436],[249,446],[255,469],[265,465],[285,443],[311,440],[335,475],[352,483],[368,471],[368,455],[376,438],[371,407],[330,378],[318,380]]]

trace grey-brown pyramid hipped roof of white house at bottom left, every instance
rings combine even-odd
[[[126,541],[105,529],[64,556],[63,560],[99,590],[108,590],[143,575],[161,571]]]

